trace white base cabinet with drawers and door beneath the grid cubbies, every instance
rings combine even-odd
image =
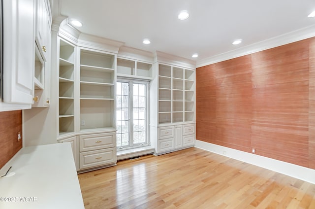
[[[158,127],[155,155],[192,147],[195,144],[195,124]]]

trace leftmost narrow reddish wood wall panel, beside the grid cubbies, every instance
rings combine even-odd
[[[215,65],[196,69],[196,139],[216,141]]]

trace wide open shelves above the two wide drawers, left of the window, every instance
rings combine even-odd
[[[115,55],[80,50],[80,131],[114,129]]]

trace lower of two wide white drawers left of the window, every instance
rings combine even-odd
[[[103,166],[116,162],[116,148],[108,148],[80,153],[80,169]]]

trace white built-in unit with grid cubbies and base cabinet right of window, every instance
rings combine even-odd
[[[172,63],[178,63],[176,58],[169,64],[157,62],[150,85],[150,136],[155,155],[195,143],[195,69],[190,64]]]

